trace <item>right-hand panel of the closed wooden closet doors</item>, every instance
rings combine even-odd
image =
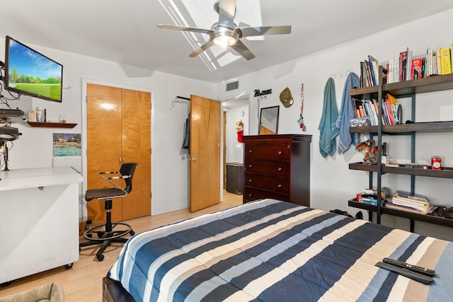
[[[122,89],[122,156],[139,163],[122,220],[151,215],[151,93]]]

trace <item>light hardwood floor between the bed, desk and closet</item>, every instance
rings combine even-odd
[[[145,216],[138,219],[132,219],[127,221],[127,223],[130,223],[135,233],[139,233],[148,230],[149,228],[172,223],[181,219],[187,219],[199,214],[228,209],[238,204],[242,204],[242,195],[231,194],[224,191],[224,199],[222,202],[195,213],[190,213],[188,209],[183,209],[156,216]],[[64,289],[65,301],[102,301],[102,279],[113,265],[113,262],[117,260],[121,248],[122,245],[119,243],[110,245],[104,253],[105,257],[102,262],[96,260],[97,246],[84,248],[80,252],[79,261],[75,262],[71,269],[57,267],[46,272],[13,280],[8,286],[0,287],[0,297],[15,294],[19,291],[26,291],[28,289],[33,289],[35,286],[41,286],[56,281]]]

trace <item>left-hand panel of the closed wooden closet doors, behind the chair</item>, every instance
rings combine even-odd
[[[87,85],[87,173],[88,189],[111,185],[99,175],[103,171],[120,169],[121,154],[121,89],[109,86]],[[112,220],[121,220],[121,199],[113,200]],[[103,200],[91,200],[88,219],[105,221]]]

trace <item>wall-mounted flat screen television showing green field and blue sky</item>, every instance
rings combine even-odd
[[[6,36],[5,86],[35,98],[62,101],[63,65]]]

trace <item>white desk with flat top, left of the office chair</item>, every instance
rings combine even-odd
[[[0,179],[0,284],[79,260],[81,175],[35,168]]]

